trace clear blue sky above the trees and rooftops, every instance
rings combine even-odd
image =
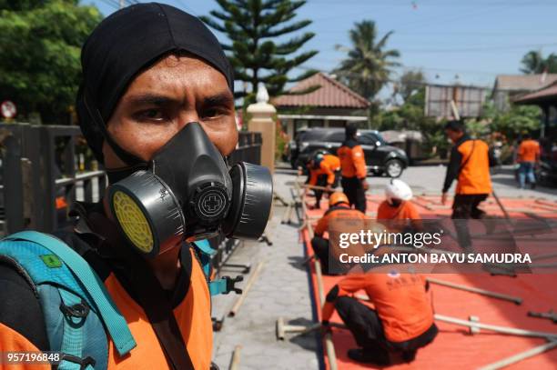
[[[118,2],[84,1],[104,15]],[[194,15],[218,7],[212,0],[161,2]],[[304,46],[319,50],[308,67],[327,72],[338,65],[344,54],[335,45],[349,45],[352,25],[371,19],[380,35],[394,31],[389,47],[400,51],[403,65],[397,75],[421,69],[431,83],[491,86],[495,75],[519,74],[528,51],[557,52],[556,14],[557,0],[309,0],[298,19],[311,19],[307,29],[317,34]]]

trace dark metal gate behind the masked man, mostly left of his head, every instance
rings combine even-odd
[[[1,235],[52,232],[70,221],[68,205],[103,196],[105,172],[87,164],[90,152],[77,126],[0,124],[0,148]],[[260,151],[260,134],[240,132],[228,162],[259,164]]]

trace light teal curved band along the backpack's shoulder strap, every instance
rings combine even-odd
[[[46,249],[57,255],[76,276],[76,279],[81,283],[80,287],[92,298],[93,305],[95,305],[96,311],[110,334],[118,355],[127,355],[136,347],[136,341],[131,335],[126,319],[120,314],[116,305],[112,302],[103,282],[81,255],[78,255],[76,251],[68,247],[55,236],[35,231],[23,231],[9,235],[3,240],[24,240],[30,243],[43,245]],[[65,305],[76,305],[76,299],[80,298],[76,295],[71,296],[71,294],[68,294],[62,295],[62,299]],[[70,347],[69,354],[71,354],[71,347],[80,342],[81,339],[78,337],[77,333],[70,335],[66,343],[66,345]]]

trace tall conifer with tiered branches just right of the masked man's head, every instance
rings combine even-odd
[[[245,104],[255,100],[259,83],[265,84],[271,97],[283,95],[285,85],[299,82],[317,73],[308,70],[300,75],[290,75],[293,68],[303,65],[315,50],[299,53],[299,49],[313,36],[312,32],[290,35],[311,24],[310,20],[293,21],[296,11],[306,1],[291,0],[216,0],[219,10],[201,19],[215,30],[228,36],[223,45],[234,67],[237,80],[251,85],[251,92],[238,92],[245,96]],[[306,94],[319,86],[297,92]]]

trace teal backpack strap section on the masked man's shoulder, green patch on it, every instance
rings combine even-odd
[[[32,283],[58,369],[106,369],[110,335],[118,355],[136,342],[124,316],[85,259],[53,235],[24,231],[0,241],[0,258]],[[106,329],[106,330],[105,330]]]

